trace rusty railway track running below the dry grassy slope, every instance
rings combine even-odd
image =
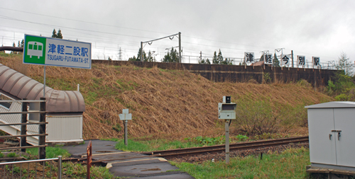
[[[290,137],[285,139],[272,139],[272,140],[265,140],[265,141],[256,141],[256,142],[243,142],[243,143],[236,143],[236,144],[229,144],[229,151],[236,151],[236,150],[245,150],[245,149],[258,149],[268,146],[280,146],[285,144],[291,143],[307,143],[308,136],[306,137]],[[225,145],[217,145],[217,146],[202,146],[202,147],[194,147],[194,148],[187,148],[187,149],[172,149],[166,151],[149,151],[149,152],[142,152],[142,154],[151,155],[151,156],[187,156],[187,155],[194,155],[194,154],[215,154],[224,152]]]

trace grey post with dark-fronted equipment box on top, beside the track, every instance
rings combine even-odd
[[[236,119],[236,103],[231,103],[231,96],[223,96],[223,103],[218,103],[218,119],[224,120],[226,129],[226,163],[229,163],[229,125]]]

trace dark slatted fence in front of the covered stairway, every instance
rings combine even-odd
[[[38,147],[38,155],[40,159],[45,158],[45,136],[48,134],[45,133],[45,125],[48,122],[45,122],[45,98],[40,98],[40,100],[1,100],[1,103],[22,103],[22,111],[18,112],[0,112],[0,115],[13,115],[21,114],[21,123],[11,123],[11,124],[0,124],[0,126],[9,126],[9,125],[21,125],[21,135],[9,135],[9,136],[0,136],[0,138],[11,138],[11,137],[20,137],[20,146],[16,147],[6,147],[0,148],[0,150],[10,150],[10,149],[21,149],[21,151],[26,152],[26,149]],[[29,103],[40,103],[40,110],[37,111],[28,111]],[[28,122],[28,114],[40,114],[39,122]],[[27,125],[38,125],[38,134],[27,134]],[[37,146],[28,146],[27,137],[38,136],[38,145]]]

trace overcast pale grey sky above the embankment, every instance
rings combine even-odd
[[[141,42],[181,32],[184,62],[212,57],[243,58],[244,52],[285,48],[321,62],[346,53],[355,60],[355,1],[28,1],[0,0],[0,40],[12,45],[23,35],[50,37],[62,30],[64,39],[92,43],[92,59],[136,56]],[[178,37],[143,48],[160,61]]]

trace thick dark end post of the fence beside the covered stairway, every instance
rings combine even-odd
[[[45,100],[45,98],[40,98],[40,100]],[[45,111],[45,101],[40,102],[40,111],[43,112]],[[45,122],[45,113],[40,113],[40,122]],[[45,134],[45,124],[39,125],[39,134]],[[42,146],[45,145],[45,136],[39,136],[38,137],[38,145]],[[38,148],[38,156],[40,159],[45,158],[45,146],[39,147]]]

